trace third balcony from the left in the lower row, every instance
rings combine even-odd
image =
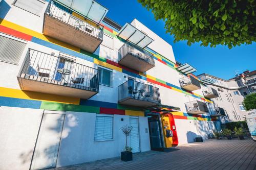
[[[190,114],[203,114],[208,112],[206,103],[200,101],[192,101],[185,103],[187,112]]]

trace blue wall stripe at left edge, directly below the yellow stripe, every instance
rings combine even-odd
[[[40,109],[41,101],[7,98],[0,96],[0,106]]]

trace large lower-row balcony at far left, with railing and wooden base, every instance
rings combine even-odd
[[[29,49],[17,77],[22,90],[89,99],[99,91],[99,70]]]

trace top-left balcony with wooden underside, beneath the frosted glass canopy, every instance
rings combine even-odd
[[[103,39],[103,27],[69,8],[50,1],[44,17],[44,35],[95,52]],[[78,18],[79,17],[79,18]]]

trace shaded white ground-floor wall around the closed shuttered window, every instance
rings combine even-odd
[[[66,113],[57,167],[120,156],[125,144],[120,128],[130,124],[130,116],[114,115],[113,140],[109,141],[94,141],[95,120],[96,113]],[[141,151],[149,151],[147,117],[139,117],[139,128]]]

